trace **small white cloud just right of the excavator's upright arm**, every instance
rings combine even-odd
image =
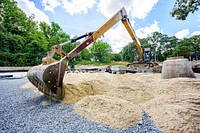
[[[153,32],[161,32],[160,28],[158,27],[158,22],[154,21],[152,25],[148,24],[145,28],[139,28],[136,30],[136,34],[138,38],[146,38]]]

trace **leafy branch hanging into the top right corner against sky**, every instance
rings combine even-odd
[[[189,13],[199,10],[200,0],[176,0],[171,16],[178,20],[185,20]]]

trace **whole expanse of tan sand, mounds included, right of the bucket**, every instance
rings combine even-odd
[[[196,76],[69,73],[62,103],[75,104],[79,115],[113,128],[131,127],[146,111],[164,132],[200,132],[200,74]]]

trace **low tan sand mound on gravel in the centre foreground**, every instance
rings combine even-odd
[[[113,128],[125,129],[141,119],[141,110],[137,105],[106,95],[87,96],[75,104],[74,110]]]

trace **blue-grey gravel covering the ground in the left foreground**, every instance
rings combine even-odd
[[[63,105],[21,86],[27,78],[0,79],[0,132],[1,133],[158,133],[161,132],[147,113],[142,120],[127,130],[109,128],[79,116],[73,105]],[[42,105],[43,101],[50,105]]]

